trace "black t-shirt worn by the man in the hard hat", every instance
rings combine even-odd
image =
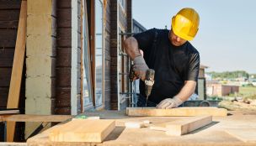
[[[155,70],[155,83],[148,100],[157,104],[177,95],[184,81],[197,81],[200,69],[200,55],[192,44],[187,41],[174,46],[168,33],[168,29],[149,29],[134,35],[148,67]],[[140,81],[140,94],[145,96],[143,81]]]

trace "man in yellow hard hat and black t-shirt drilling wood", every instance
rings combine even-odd
[[[200,55],[188,40],[195,38],[199,20],[193,8],[183,8],[172,18],[171,30],[149,29],[125,39],[125,51],[141,79],[138,107],[146,104],[144,80],[148,68],[155,70],[155,83],[147,107],[179,107],[194,93]]]

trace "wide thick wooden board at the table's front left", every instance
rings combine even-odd
[[[101,143],[114,128],[114,120],[76,119],[53,129],[49,138],[54,142]]]

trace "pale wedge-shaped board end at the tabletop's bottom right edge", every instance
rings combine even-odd
[[[245,143],[256,142],[256,128],[233,128],[225,131]]]

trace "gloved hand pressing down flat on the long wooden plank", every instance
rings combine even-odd
[[[157,108],[173,108],[173,107],[179,107],[183,103],[182,100],[179,99],[179,97],[174,96],[173,98],[166,98],[159,104],[157,104]]]

